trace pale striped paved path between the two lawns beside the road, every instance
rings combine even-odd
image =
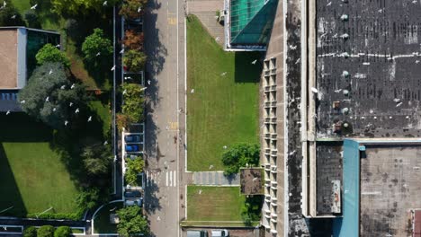
[[[223,171],[193,172],[193,184],[210,186],[239,186],[239,176],[225,176]]]

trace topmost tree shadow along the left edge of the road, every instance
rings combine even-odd
[[[154,74],[159,74],[166,62],[167,49],[161,43],[160,32],[157,29],[157,13],[154,10],[161,8],[161,3],[156,0],[149,1],[148,8],[145,13],[144,31],[145,39],[145,53],[148,56],[147,71]]]

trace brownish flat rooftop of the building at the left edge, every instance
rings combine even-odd
[[[16,29],[0,30],[0,89],[17,87],[17,42]]]

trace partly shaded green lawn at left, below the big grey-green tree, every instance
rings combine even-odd
[[[74,213],[76,185],[61,155],[50,147],[52,130],[23,113],[0,115],[0,215],[24,216],[50,206]]]

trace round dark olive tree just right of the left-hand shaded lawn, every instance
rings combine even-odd
[[[91,175],[101,175],[110,170],[112,154],[109,146],[94,144],[85,146],[82,154],[85,171]]]

